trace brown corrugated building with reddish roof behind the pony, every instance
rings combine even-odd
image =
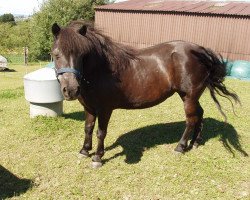
[[[130,0],[96,7],[95,24],[138,48],[185,40],[250,61],[250,3]]]

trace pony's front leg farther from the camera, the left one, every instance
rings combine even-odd
[[[96,121],[96,116],[93,114],[90,114],[88,111],[85,109],[85,138],[84,138],[84,143],[83,147],[80,151],[80,153],[86,157],[89,157],[89,151],[92,149],[92,133],[93,129],[95,127],[95,121]]]

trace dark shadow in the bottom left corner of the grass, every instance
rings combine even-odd
[[[31,187],[31,180],[20,179],[0,165],[0,199],[19,196]]]

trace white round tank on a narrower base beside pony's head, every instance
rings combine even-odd
[[[55,117],[63,113],[63,96],[54,69],[42,68],[26,74],[24,93],[30,102],[30,117]]]

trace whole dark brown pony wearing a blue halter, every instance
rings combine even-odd
[[[73,21],[65,28],[55,23],[52,32],[52,54],[64,98],[78,99],[85,109],[85,140],[80,151],[85,156],[90,156],[98,118],[94,167],[102,165],[108,122],[116,108],[148,108],[177,92],[184,103],[186,129],[175,151],[184,152],[192,130],[190,147],[202,139],[199,98],[205,88],[225,118],[215,93],[239,102],[223,84],[226,67],[222,58],[196,44],[172,41],[135,50],[113,42],[83,21]]]

